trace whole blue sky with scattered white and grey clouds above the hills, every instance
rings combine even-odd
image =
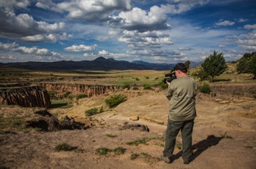
[[[0,0],[0,62],[226,61],[256,51],[255,0]]]

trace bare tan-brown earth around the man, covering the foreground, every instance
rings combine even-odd
[[[175,149],[176,160],[166,164],[162,155],[168,101],[165,91],[122,91],[128,100],[115,109],[85,117],[84,112],[94,106],[104,106],[109,95],[83,98],[69,109],[50,109],[50,113],[75,117],[76,121],[89,122],[87,130],[61,130],[58,132],[1,133],[0,168],[256,168],[256,100],[230,98],[214,100],[208,95],[197,95],[197,118],[193,133],[192,162],[184,165],[181,149]],[[111,94],[111,93],[110,93]],[[113,93],[112,93],[113,94]],[[27,109],[18,106],[1,106],[0,117],[7,114],[26,114]],[[29,111],[28,111],[29,112]],[[27,112],[27,113],[28,113]],[[138,121],[129,117],[138,116]],[[149,132],[122,130],[124,124],[147,125]],[[221,134],[231,136],[222,138]],[[109,137],[108,135],[115,135]],[[209,136],[210,135],[210,136]],[[152,138],[147,144],[129,146],[127,142]],[[181,142],[178,135],[177,142]],[[58,144],[77,146],[80,152],[56,152]],[[124,154],[99,155],[97,148],[126,149]],[[131,160],[132,154],[140,155]]]

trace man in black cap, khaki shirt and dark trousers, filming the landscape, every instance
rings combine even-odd
[[[192,156],[192,130],[196,117],[195,95],[197,86],[195,80],[187,75],[187,67],[183,63],[177,63],[174,71],[177,79],[167,82],[166,96],[170,101],[170,112],[162,160],[167,163],[173,162],[176,136],[181,130],[182,158],[184,164],[189,164]]]

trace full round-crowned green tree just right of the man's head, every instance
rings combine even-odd
[[[209,55],[208,58],[203,61],[202,67],[203,71],[211,76],[211,82],[213,82],[214,76],[221,75],[226,70],[227,65],[222,52],[218,53],[214,50],[214,54]]]

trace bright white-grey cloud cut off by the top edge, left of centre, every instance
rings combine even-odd
[[[131,0],[72,0],[58,4],[53,3],[51,0],[40,0],[36,5],[55,12],[68,12],[67,17],[71,20],[87,20],[91,22],[108,20],[108,16],[113,12],[132,8]]]

